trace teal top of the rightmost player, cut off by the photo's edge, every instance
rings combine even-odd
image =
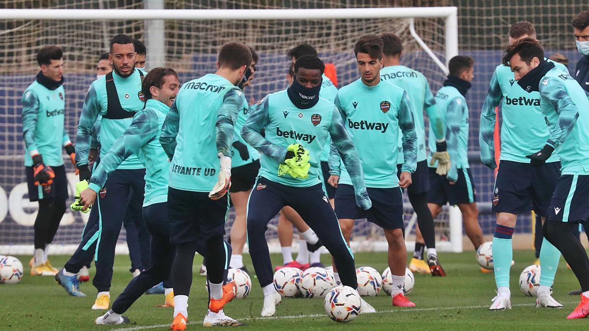
[[[544,143],[558,152],[561,173],[589,175],[589,96],[573,77],[557,68],[542,77],[539,89],[540,107],[550,128]]]

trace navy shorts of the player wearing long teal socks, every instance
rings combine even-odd
[[[529,163],[501,160],[491,211],[521,214],[534,210],[545,217],[559,177],[560,162],[534,167]]]

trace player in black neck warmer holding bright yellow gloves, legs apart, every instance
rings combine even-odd
[[[314,55],[298,58],[293,84],[267,95],[241,129],[243,139],[262,153],[256,189],[247,208],[247,242],[264,293],[262,316],[273,316],[282,300],[272,283],[272,262],[264,233],[270,219],[284,206],[300,214],[325,244],[341,270],[342,283],[354,289],[358,286],[352,251],[341,236],[319,179],[319,159],[327,135],[331,135],[350,169],[355,190],[351,203],[363,209],[371,204],[358,152],[339,112],[331,101],[319,97],[324,68]],[[265,137],[260,134],[262,130]],[[364,312],[370,308],[362,301]]]

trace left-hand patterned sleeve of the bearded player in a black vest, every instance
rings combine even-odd
[[[92,127],[100,114],[100,102],[94,84],[90,85],[88,94],[82,105],[82,114],[80,114],[80,123],[78,123],[78,135],[75,145],[75,163],[79,168],[88,164],[88,153],[92,141]]]

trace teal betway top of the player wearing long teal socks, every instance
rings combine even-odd
[[[550,61],[550,60],[549,60]],[[558,69],[568,72],[564,65],[554,62]],[[530,163],[525,155],[544,147],[550,132],[540,111],[540,93],[524,91],[515,81],[511,68],[498,65],[491,77],[489,91],[482,105],[479,127],[481,161],[495,167],[495,108],[501,102],[501,155],[500,160]],[[547,163],[557,162],[556,153]]]

